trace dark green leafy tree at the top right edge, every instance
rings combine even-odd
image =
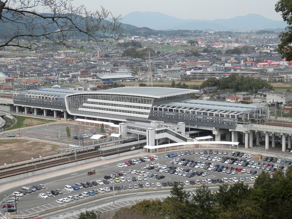
[[[280,44],[278,53],[288,61],[292,60],[292,4],[291,0],[279,0],[275,5],[275,11],[281,12],[281,16],[289,26],[279,35]]]

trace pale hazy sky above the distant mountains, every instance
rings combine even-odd
[[[234,18],[259,14],[266,18],[282,20],[274,11],[278,0],[73,0],[87,9],[99,10],[102,5],[114,16],[125,16],[134,11],[161,12],[183,19]],[[123,22],[123,21],[121,21]]]

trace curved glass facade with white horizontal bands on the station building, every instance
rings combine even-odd
[[[70,114],[123,120],[147,120],[152,97],[110,93],[70,94],[65,98]]]

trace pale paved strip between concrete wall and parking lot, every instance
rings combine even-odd
[[[20,179],[17,181],[13,181],[13,182],[9,182],[9,183],[4,183],[0,185],[0,192],[3,192],[7,189],[10,188],[14,188],[16,186],[21,186],[27,183],[32,183],[32,182],[36,182],[36,181],[41,181],[41,180],[46,180],[46,179],[50,179],[52,177],[56,177],[56,176],[62,176],[65,174],[69,174],[69,173],[73,173],[73,172],[77,172],[80,170],[84,170],[84,174],[86,174],[88,172],[88,170],[96,167],[96,166],[101,166],[104,164],[111,164],[113,162],[117,162],[118,160],[125,160],[125,159],[129,159],[132,157],[140,157],[143,155],[146,155],[146,152],[142,152],[142,153],[136,153],[136,154],[131,154],[125,157],[120,157],[120,158],[115,158],[115,159],[110,159],[110,160],[99,160],[99,161],[95,161],[95,162],[91,162],[91,163],[87,163],[87,164],[81,164],[78,166],[72,166],[72,167],[68,167],[68,168],[64,168],[62,169],[62,171],[60,170],[56,170],[56,171],[52,171],[52,172],[47,172],[44,174],[39,174],[36,176],[32,176],[30,178],[25,178],[25,179]],[[97,170],[98,171],[98,170]],[[45,183],[44,183],[45,184]]]

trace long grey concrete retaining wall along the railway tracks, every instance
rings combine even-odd
[[[137,152],[139,152],[139,151],[138,150],[132,150],[132,151],[128,151],[128,152],[125,152],[125,153],[111,155],[111,156],[108,156],[108,157],[96,157],[96,158],[91,158],[91,159],[87,159],[87,160],[83,160],[83,161],[77,161],[77,162],[73,162],[73,163],[69,163],[69,164],[57,165],[57,166],[53,166],[53,167],[50,167],[50,168],[40,169],[40,170],[37,170],[37,171],[23,173],[23,174],[19,174],[19,175],[16,175],[16,176],[11,176],[11,177],[7,177],[7,178],[4,178],[4,179],[0,179],[0,183],[8,183],[8,182],[19,180],[19,179],[22,179],[22,178],[35,176],[37,174],[43,174],[43,173],[47,173],[47,172],[50,172],[50,171],[60,170],[60,169],[68,168],[68,167],[71,167],[71,166],[80,165],[80,164],[86,164],[86,163],[90,163],[90,162],[94,162],[94,161],[98,161],[98,160],[109,160],[109,159],[112,159],[112,158],[123,157],[123,156],[127,156],[127,155],[130,155],[130,154],[135,154]]]

